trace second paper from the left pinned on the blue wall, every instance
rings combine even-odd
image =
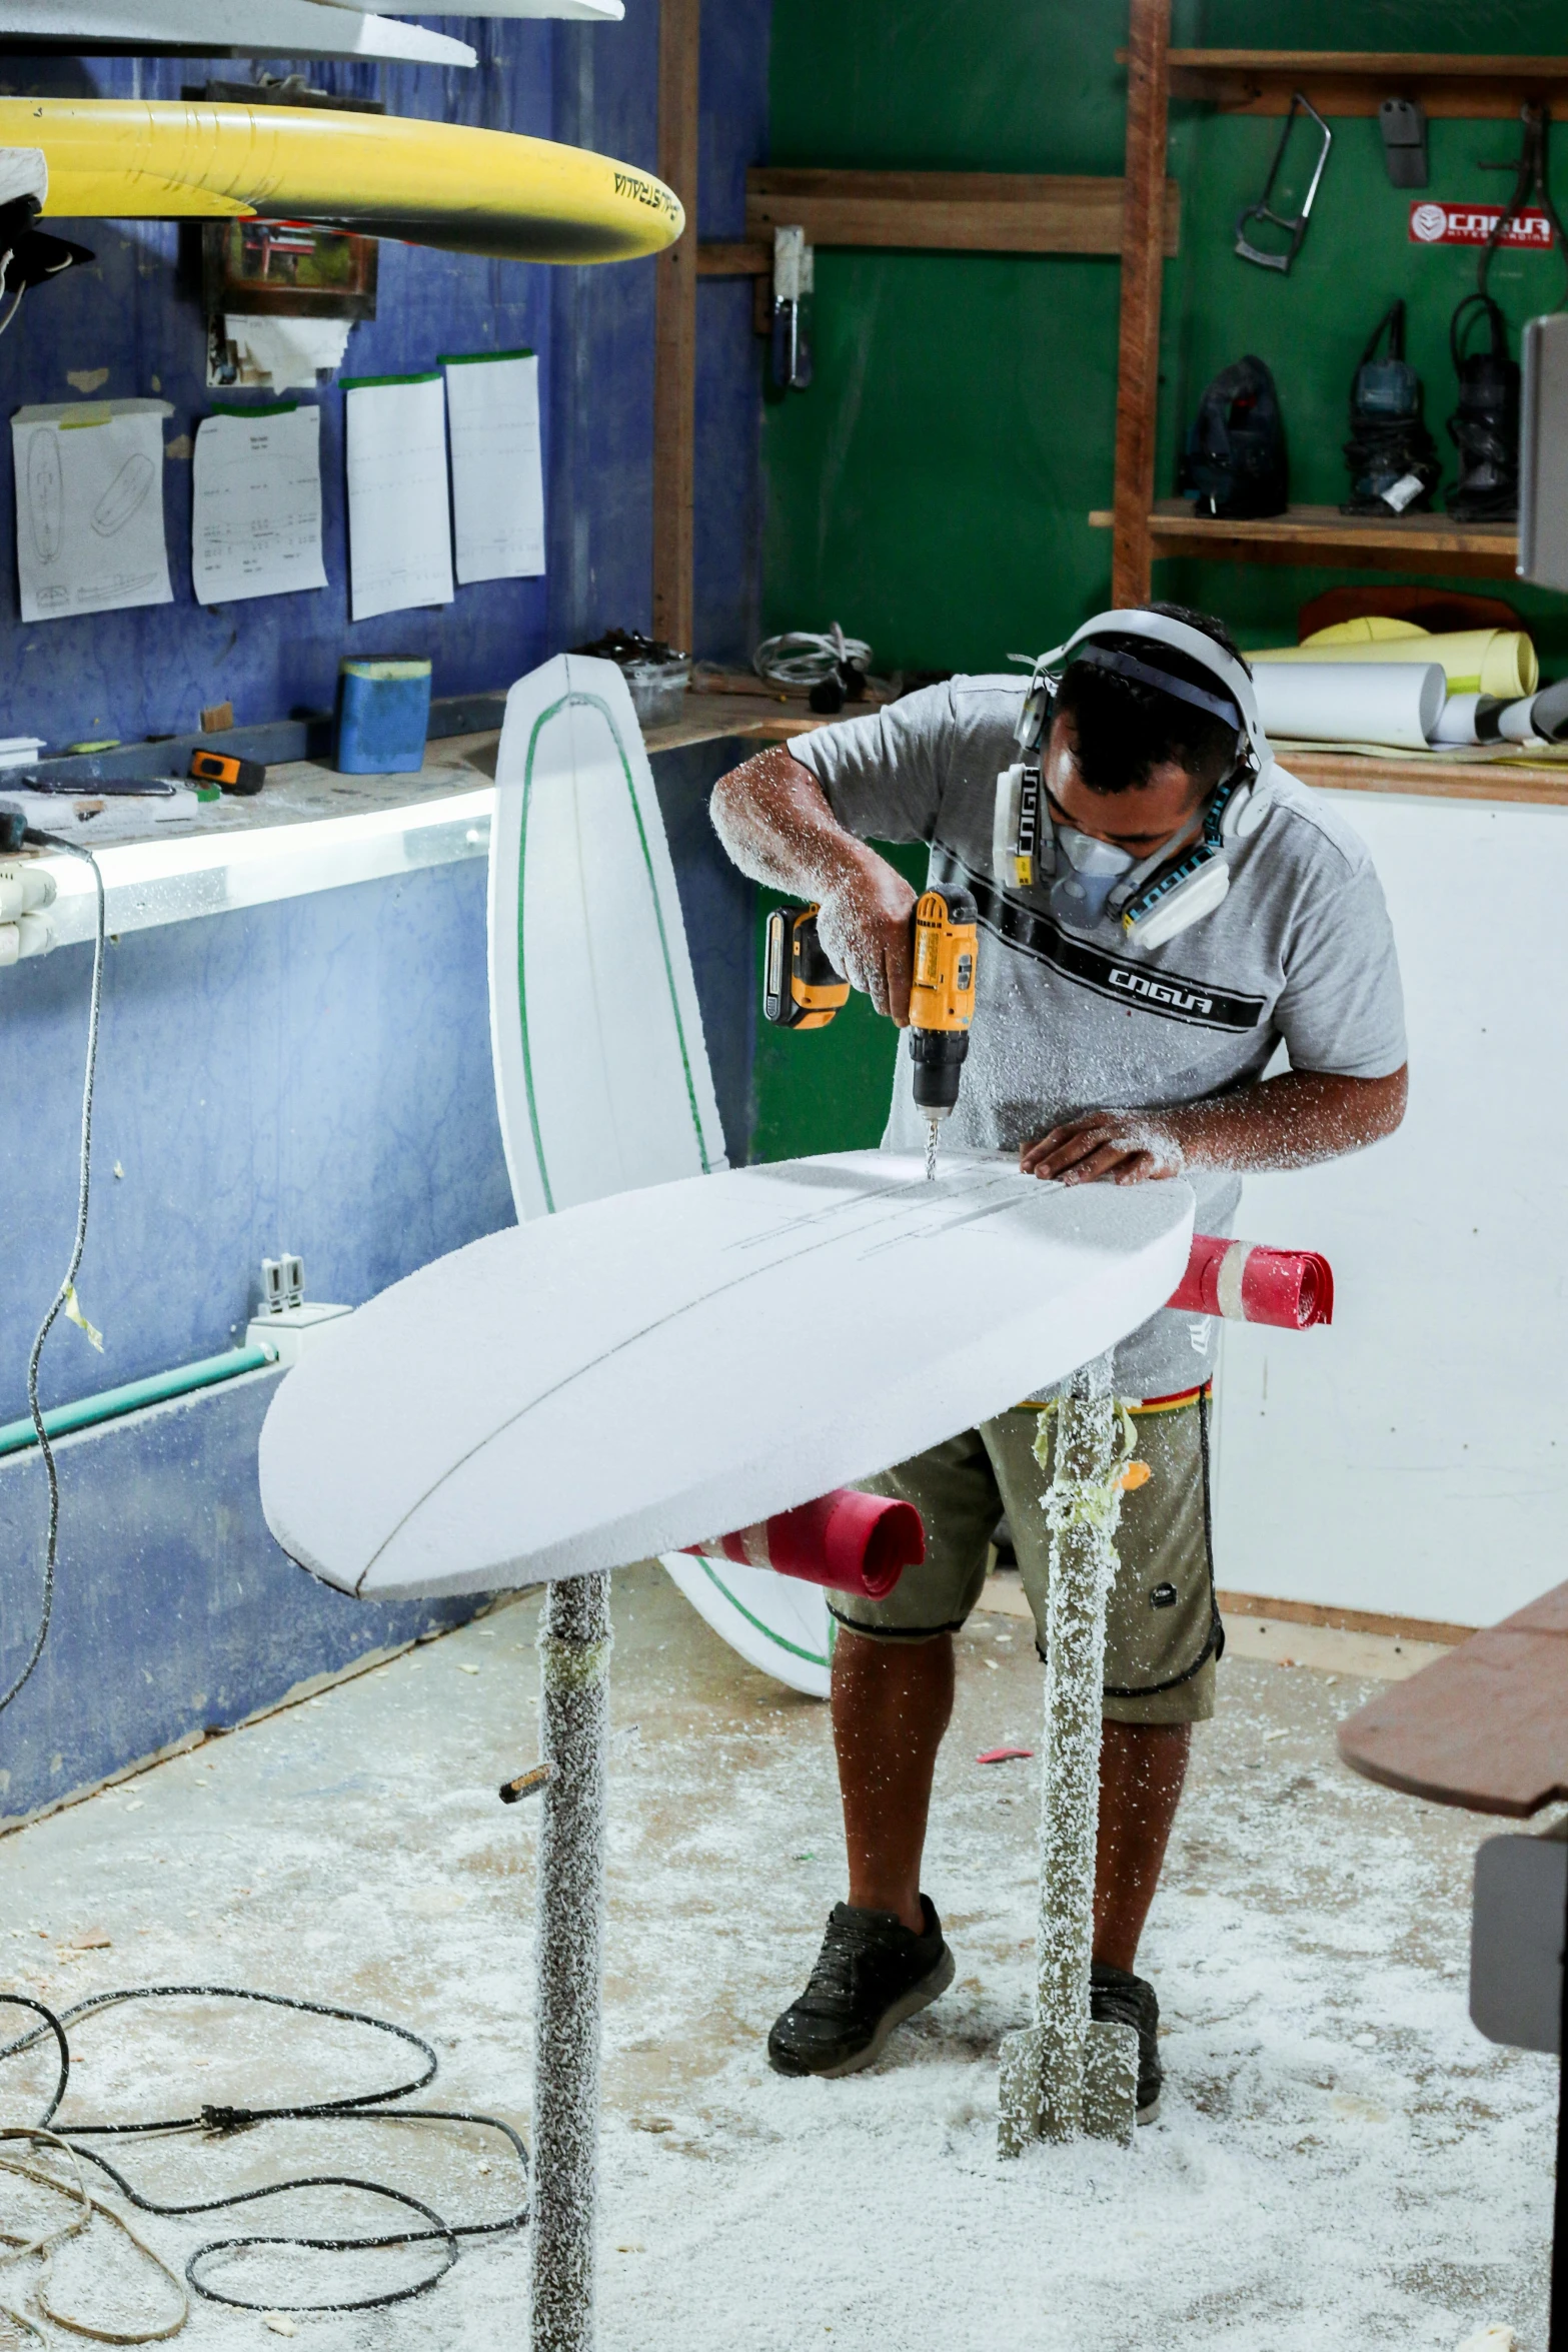
[[[322,412],[237,409],[195,435],[190,579],[200,604],[324,588]]]

